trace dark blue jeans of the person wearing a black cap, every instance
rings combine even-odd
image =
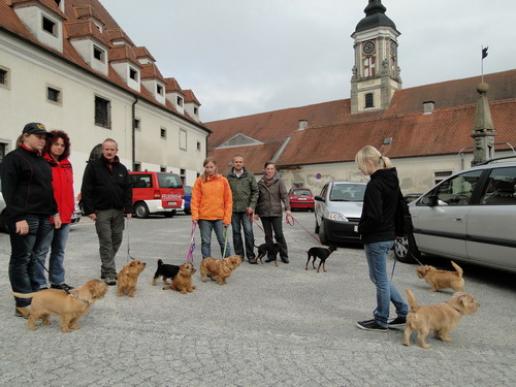
[[[27,216],[29,233],[16,234],[16,225],[9,224],[11,240],[11,259],[9,260],[9,281],[11,288],[18,293],[31,293],[39,289],[34,282],[34,267],[39,265],[35,259],[41,245],[48,238],[52,238],[53,225],[48,216]],[[30,305],[30,299],[16,298],[16,306]]]

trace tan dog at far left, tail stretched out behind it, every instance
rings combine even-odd
[[[31,330],[36,329],[36,322],[42,320],[49,325],[48,317],[53,313],[61,318],[61,331],[70,332],[79,329],[79,319],[85,315],[90,306],[98,299],[104,297],[107,285],[100,280],[90,280],[84,285],[70,290],[70,294],[64,290],[45,289],[35,293],[16,293],[18,298],[32,298],[29,320],[27,326]]]

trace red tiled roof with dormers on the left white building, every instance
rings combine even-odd
[[[74,47],[70,44],[68,37],[82,37],[82,36],[91,36],[96,40],[103,42],[107,47],[111,47],[110,41],[113,37],[127,37],[125,32],[120,28],[120,26],[116,23],[116,21],[111,17],[111,15],[106,11],[106,9],[102,6],[99,0],[66,0],[65,1],[65,13],[62,14],[64,18],[66,18],[67,22],[64,23],[64,36],[63,39],[63,52],[58,52],[51,47],[46,46],[45,44],[39,42],[32,33],[27,29],[27,27],[23,24],[23,22],[18,18],[16,13],[14,12],[11,5],[16,3],[17,6],[31,4],[33,2],[40,3],[41,5],[47,7],[48,9],[54,11],[55,13],[61,12],[57,7],[57,4],[53,0],[0,0],[0,31],[6,31],[10,34],[14,34],[17,37],[30,42],[31,44],[43,49],[53,56],[56,56],[64,61],[69,62],[72,65],[80,67],[82,70],[89,72],[95,77],[101,78],[106,82],[109,82],[113,85],[116,85],[119,88],[126,90],[131,94],[138,94],[139,97],[146,100],[148,103],[151,103],[161,109],[165,109],[176,116],[179,116],[186,121],[192,123],[193,125],[210,132],[210,129],[205,127],[203,124],[199,123],[196,119],[193,119],[188,114],[180,114],[178,113],[172,105],[163,105],[156,101],[154,96],[150,94],[144,87],[141,88],[141,92],[138,93],[135,90],[129,88],[125,81],[118,76],[118,74],[113,70],[111,66],[108,66],[108,75],[105,76],[95,70],[93,70],[79,55],[79,53],[74,49]],[[80,11],[77,11],[79,9]],[[98,19],[104,25],[104,32],[100,32],[95,24],[92,22],[91,17]],[[143,53],[143,56],[149,57],[152,60],[154,58],[147,51],[145,47],[133,48],[134,45],[127,37],[129,41],[128,50],[120,50],[118,46],[113,47],[110,50],[110,55],[114,52],[114,58],[120,58],[127,56],[134,61],[135,64],[139,64],[138,61],[135,60],[137,54],[140,55]],[[114,50],[114,51],[113,51]],[[131,54],[131,50],[134,52]],[[134,55],[133,55],[134,54]],[[111,59],[111,58],[110,58]],[[142,66],[143,65],[139,65]],[[154,66],[154,68],[149,68],[147,70],[152,74],[152,76],[157,76],[158,79],[161,79],[164,82],[163,76],[161,75],[159,69]],[[143,70],[142,70],[143,73]],[[143,77],[142,77],[143,78]]]

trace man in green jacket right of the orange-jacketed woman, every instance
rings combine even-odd
[[[258,200],[258,185],[253,174],[246,171],[242,156],[233,157],[233,168],[228,174],[228,181],[233,194],[231,227],[233,229],[235,254],[240,255],[242,259],[247,256],[249,263],[255,264],[252,219]],[[245,254],[242,243],[242,226],[244,228]]]

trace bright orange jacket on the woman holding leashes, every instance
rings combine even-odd
[[[208,177],[206,181],[198,177],[192,189],[190,203],[192,220],[223,220],[231,223],[233,197],[228,180],[222,175]]]

